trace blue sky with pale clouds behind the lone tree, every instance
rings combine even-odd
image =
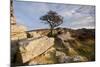
[[[63,17],[65,28],[95,28],[95,6],[79,4],[57,4],[32,1],[14,0],[14,15],[17,24],[27,27],[28,30],[49,28],[42,23],[40,17],[49,10],[57,12]]]

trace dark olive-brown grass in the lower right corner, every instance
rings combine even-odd
[[[95,60],[95,43],[94,40],[80,41],[83,44],[76,49],[79,55],[85,56],[89,61]]]

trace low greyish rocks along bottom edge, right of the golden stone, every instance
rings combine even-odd
[[[80,55],[68,56],[64,52],[61,52],[61,51],[56,51],[56,57],[58,58],[59,63],[88,61],[86,57],[83,57]]]

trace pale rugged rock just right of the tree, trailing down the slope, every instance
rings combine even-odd
[[[77,51],[75,51],[73,48],[73,45],[76,45],[76,44],[74,43],[75,39],[71,37],[70,32],[66,32],[66,33],[58,35],[57,39],[59,40],[58,45],[62,44],[64,48],[66,48],[67,53],[69,55],[78,55]]]

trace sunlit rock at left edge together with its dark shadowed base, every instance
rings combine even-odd
[[[16,62],[15,58],[17,52],[19,52],[18,42],[21,39],[26,39],[27,34],[25,33],[26,28],[21,25],[11,25],[11,62]],[[15,61],[14,61],[15,60]],[[20,62],[19,62],[20,63]]]

